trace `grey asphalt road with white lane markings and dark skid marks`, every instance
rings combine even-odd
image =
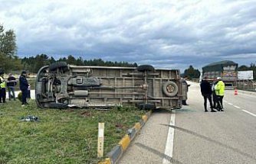
[[[224,100],[225,111],[204,112],[199,84],[192,83],[189,106],[153,113],[120,163],[255,164],[256,94],[226,91]]]

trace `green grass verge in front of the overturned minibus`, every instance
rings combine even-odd
[[[0,104],[0,164],[97,163],[97,126],[105,123],[104,154],[139,121],[145,111],[133,107],[110,111],[40,109],[34,101]],[[34,115],[38,122],[21,121]]]

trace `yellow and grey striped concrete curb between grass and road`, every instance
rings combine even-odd
[[[139,122],[136,122],[132,128],[127,130],[126,135],[120,140],[117,146],[114,146],[110,153],[107,153],[106,159],[103,161],[98,162],[98,164],[116,164],[120,158],[123,156],[123,153],[130,145],[131,141],[136,137],[136,134],[141,130],[143,125],[148,121],[149,117],[151,116],[152,111],[146,112]]]

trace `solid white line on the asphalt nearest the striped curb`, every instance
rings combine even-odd
[[[171,120],[170,124],[171,126],[175,125],[175,110],[172,110]],[[169,127],[167,140],[166,140],[166,150],[165,150],[165,156],[162,159],[162,164],[170,164],[170,159],[172,158],[173,153],[173,140],[174,140],[174,128]]]

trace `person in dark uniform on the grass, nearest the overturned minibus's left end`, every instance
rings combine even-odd
[[[28,80],[26,79],[27,72],[22,71],[21,76],[19,78],[20,89],[21,89],[21,102],[22,105],[28,105],[27,97],[28,97]]]

